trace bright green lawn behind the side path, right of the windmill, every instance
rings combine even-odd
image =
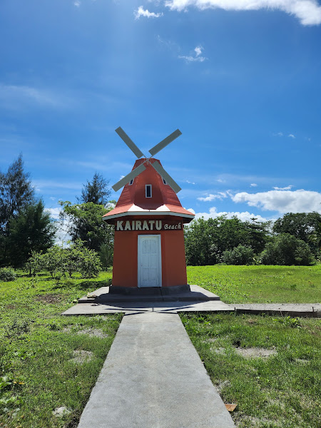
[[[188,266],[188,283],[200,285],[225,303],[317,303],[321,265]]]

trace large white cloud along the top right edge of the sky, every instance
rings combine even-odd
[[[294,15],[302,25],[321,24],[321,6],[317,0],[165,0],[171,10],[184,11],[190,6],[200,10],[225,9],[226,11],[280,10]]]

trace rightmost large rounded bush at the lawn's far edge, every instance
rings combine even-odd
[[[307,243],[290,233],[281,233],[267,243],[260,261],[263,265],[309,266],[315,263],[315,258]]]

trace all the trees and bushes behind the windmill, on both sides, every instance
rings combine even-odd
[[[101,220],[115,203],[108,200],[110,194],[108,181],[95,173],[77,203],[60,202],[60,221],[53,221],[36,198],[19,156],[6,173],[0,172],[0,267],[26,267],[29,262],[31,272],[44,268],[52,275],[56,269],[64,275],[72,265],[92,275],[100,266],[111,266],[113,227]],[[55,245],[59,228],[71,238],[64,249]],[[321,215],[287,213],[275,223],[224,215],[200,218],[185,227],[184,234],[188,265],[311,265],[320,259]]]

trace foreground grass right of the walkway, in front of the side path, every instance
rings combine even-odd
[[[243,428],[321,427],[321,325],[314,318],[183,314],[185,329]],[[240,348],[273,350],[248,358]]]

